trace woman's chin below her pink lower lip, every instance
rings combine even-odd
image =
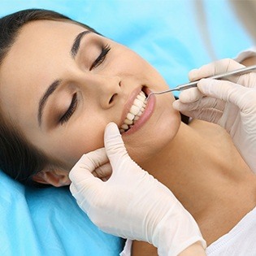
[[[181,121],[180,113],[171,106],[172,102],[170,95],[158,98],[154,113],[144,127],[123,137],[128,154],[139,165],[143,166],[154,158],[176,137]]]

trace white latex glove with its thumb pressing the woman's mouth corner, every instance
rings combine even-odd
[[[116,124],[106,126],[104,142],[106,150],[83,155],[70,172],[72,195],[93,223],[115,236],[150,242],[164,256],[177,255],[197,241],[206,247],[189,212],[129,157]],[[92,172],[107,158],[112,175],[104,182]]]

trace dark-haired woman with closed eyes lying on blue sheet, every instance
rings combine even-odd
[[[103,146],[106,124],[114,122],[132,159],[171,189],[208,245],[254,209],[256,178],[223,128],[180,123],[170,95],[150,98],[137,112],[137,95],[167,89],[137,54],[47,11],[1,22],[1,167],[9,175],[70,184],[72,166]],[[141,242],[132,249],[151,250]]]

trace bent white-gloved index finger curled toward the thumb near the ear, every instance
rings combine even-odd
[[[108,158],[104,148],[84,154],[75,166],[72,167],[72,170],[69,172],[69,178],[76,185],[83,183],[85,180],[98,180],[95,179],[92,172],[107,162]]]

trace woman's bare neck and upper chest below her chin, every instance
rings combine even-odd
[[[252,195],[248,182],[254,184],[255,195],[255,176],[228,133],[215,124],[202,121],[189,126],[181,124],[170,144],[143,168],[171,189],[197,220],[208,242],[215,241],[222,232],[228,232],[228,228],[255,206],[255,197],[252,202],[245,201]],[[239,193],[240,197],[236,198],[234,193]],[[237,207],[241,211],[236,211],[233,218]],[[215,225],[215,218],[223,218],[223,215],[231,218],[232,223],[220,226],[221,231],[216,230],[214,235],[207,234],[203,227],[209,230],[209,223],[205,219]]]

